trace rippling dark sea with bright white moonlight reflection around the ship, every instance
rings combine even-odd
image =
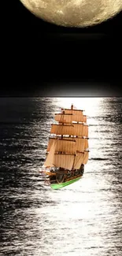
[[[54,191],[39,173],[54,113],[85,109],[83,178]],[[0,256],[122,255],[122,98],[0,98]]]

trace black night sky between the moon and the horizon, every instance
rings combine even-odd
[[[82,90],[84,82],[87,91],[122,95],[122,12],[94,27],[76,29],[48,24],[17,0],[6,6],[1,95],[57,95],[58,85],[60,96],[61,88],[68,92],[76,84]]]

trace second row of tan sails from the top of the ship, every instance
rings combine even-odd
[[[73,121],[75,122],[87,122],[87,116],[82,115],[75,115],[72,113],[57,113],[55,114],[55,121],[60,123],[69,123],[71,124]]]

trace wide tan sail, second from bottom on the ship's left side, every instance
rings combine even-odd
[[[71,139],[54,139],[51,138],[48,143],[47,152],[50,151],[52,144],[56,143],[55,152],[65,152],[68,154],[76,154],[76,141]]]

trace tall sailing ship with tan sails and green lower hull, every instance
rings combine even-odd
[[[72,184],[83,176],[89,157],[87,116],[83,110],[61,109],[51,124],[46,161],[45,182],[53,189]]]

